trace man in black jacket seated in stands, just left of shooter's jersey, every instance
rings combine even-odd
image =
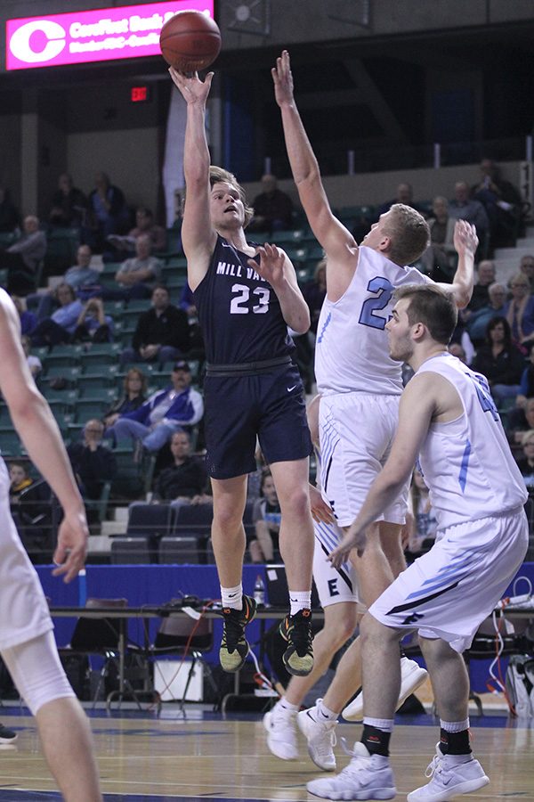
[[[125,348],[121,364],[128,362],[173,362],[190,348],[190,325],[183,309],[170,302],[161,284],[152,290],[152,306],[139,316],[132,348]]]

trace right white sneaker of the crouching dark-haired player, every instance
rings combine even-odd
[[[465,758],[462,763],[459,755],[443,755],[438,744],[433,761],[425,771],[425,777],[432,777],[432,780],[412,791],[408,795],[409,802],[448,802],[488,785],[490,778],[478,760],[471,755]]]

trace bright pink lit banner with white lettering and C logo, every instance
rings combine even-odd
[[[160,54],[159,31],[176,12],[214,16],[214,0],[174,0],[7,20],[6,70]]]

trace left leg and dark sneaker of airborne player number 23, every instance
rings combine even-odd
[[[212,479],[214,520],[212,544],[223,604],[223,638],[219,659],[224,671],[239,671],[249,646],[245,627],[255,618],[256,605],[243,594],[243,557],[247,539],[243,511],[247,499],[247,477]]]

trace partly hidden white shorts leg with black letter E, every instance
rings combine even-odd
[[[313,579],[321,607],[337,604],[339,601],[357,603],[358,584],[356,571],[350,562],[344,562],[340,569],[335,569],[327,556],[339,544],[343,532],[335,524],[317,523],[313,521],[315,531],[315,550],[313,552]]]

